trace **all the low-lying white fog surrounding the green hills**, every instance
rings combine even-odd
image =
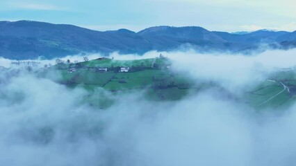
[[[139,59],[158,54],[111,56]],[[163,54],[173,60],[174,68],[197,80],[220,82],[232,93],[265,80],[277,68],[296,64],[296,50],[253,56]],[[9,65],[10,60],[0,59],[0,66]],[[277,110],[281,115],[257,113],[247,104],[217,97],[210,89],[162,104],[133,93],[101,110],[83,102],[88,95],[83,89],[67,89],[29,73],[9,78],[3,73],[0,165],[282,166],[296,162],[296,105]]]

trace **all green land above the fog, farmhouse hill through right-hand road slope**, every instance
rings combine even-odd
[[[175,71],[170,59],[137,60],[99,58],[76,64],[57,64],[38,72],[69,88],[82,87],[90,95],[86,102],[101,108],[126,94],[141,93],[152,101],[175,101],[211,89],[220,97],[245,102],[255,109],[288,107],[295,100],[295,71],[277,71],[269,79],[247,89],[242,96],[230,93],[217,82],[194,80],[186,71]],[[104,89],[104,91],[103,91]]]

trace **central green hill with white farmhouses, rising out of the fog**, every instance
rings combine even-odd
[[[87,89],[91,95],[86,100],[99,107],[108,107],[115,96],[133,92],[142,92],[147,100],[173,101],[211,86],[195,82],[184,72],[173,71],[172,62],[166,57],[124,61],[99,58],[76,64],[57,64],[38,75],[70,88]]]

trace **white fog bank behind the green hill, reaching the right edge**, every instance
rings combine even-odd
[[[233,53],[202,54],[196,53],[195,50],[161,53],[172,59],[174,68],[177,70],[186,71],[191,77],[197,79],[215,80],[224,85],[225,88],[234,91],[250,83],[262,82],[269,73],[278,68],[293,68],[296,61],[296,49],[267,50],[263,53],[247,56]],[[159,54],[156,51],[151,51],[142,56],[113,53],[110,57],[115,59],[141,59],[153,58]]]

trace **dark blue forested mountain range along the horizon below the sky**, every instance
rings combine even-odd
[[[66,24],[38,21],[0,21],[0,57],[53,59],[79,53],[136,53],[193,48],[199,52],[250,53],[265,48],[296,47],[294,32],[257,30],[226,33],[198,26],[156,26],[135,33],[131,30],[97,31]]]

